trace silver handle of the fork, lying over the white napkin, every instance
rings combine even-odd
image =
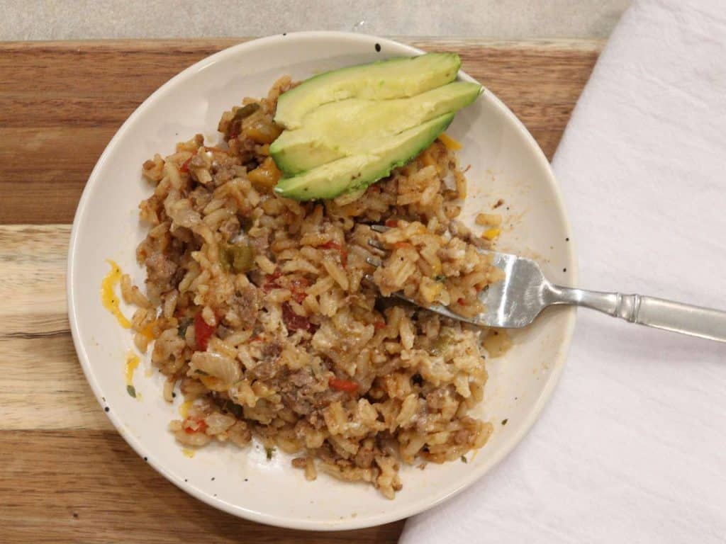
[[[574,304],[592,308],[666,331],[726,342],[726,312],[641,294],[604,293],[552,286],[551,304]]]

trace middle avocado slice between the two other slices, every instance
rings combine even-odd
[[[305,172],[365,154],[390,136],[468,106],[480,93],[478,83],[454,81],[409,98],[330,102],[306,115],[302,128],[283,132],[270,154],[285,174]]]

